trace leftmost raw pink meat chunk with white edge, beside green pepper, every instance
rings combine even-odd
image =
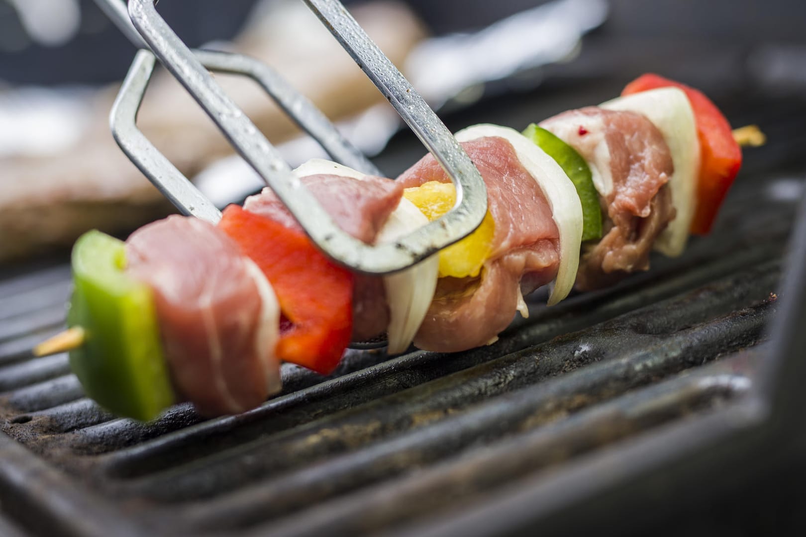
[[[172,216],[127,240],[127,271],[154,291],[177,392],[202,415],[233,414],[280,390],[280,308],[237,244],[209,222]]]

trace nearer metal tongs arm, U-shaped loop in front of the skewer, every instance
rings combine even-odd
[[[199,57],[168,27],[156,12],[152,0],[130,0],[128,10],[131,22],[144,44],[152,49],[162,64],[205,109],[243,159],[272,188],[322,251],[355,271],[370,274],[401,271],[478,227],[487,210],[484,181],[450,131],[372,43],[342,4],[335,0],[307,3],[388,97],[455,184],[457,200],[454,209],[445,217],[409,233],[397,242],[368,246],[339,229],[260,130],[226,96]],[[115,20],[119,18],[118,7],[110,3],[108,10],[114,11]],[[118,21],[118,26],[126,25]],[[289,112],[295,117],[295,110]],[[366,166],[362,165],[361,168],[367,171]]]

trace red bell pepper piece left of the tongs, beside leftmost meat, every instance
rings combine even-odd
[[[281,323],[277,357],[332,373],[350,344],[352,273],[326,258],[305,233],[238,205],[227,207],[218,225],[274,287],[289,321]]]

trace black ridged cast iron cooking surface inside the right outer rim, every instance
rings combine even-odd
[[[806,105],[737,115],[771,144],[749,152],[717,229],[681,258],[554,308],[538,291],[528,320],[466,353],[350,351],[330,378],[283,366],[284,392],[243,415],[179,405],[153,423],[115,419],[66,355],[30,354],[62,328],[69,268],[6,269],[0,530],[438,534],[490,498],[742,399],[783,291]]]

